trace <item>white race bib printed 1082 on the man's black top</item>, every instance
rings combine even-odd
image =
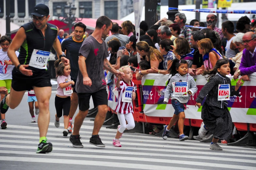
[[[47,69],[47,62],[49,60],[51,52],[36,50],[34,49],[29,61],[29,66],[40,68],[40,69]]]

